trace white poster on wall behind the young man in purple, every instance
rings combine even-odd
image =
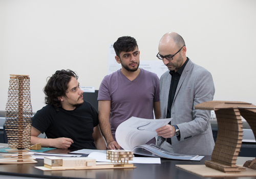
[[[113,48],[113,43],[110,43],[109,55],[108,55],[108,75],[122,68],[121,64],[117,63],[115,56],[116,56],[116,52]],[[167,66],[163,64],[162,60],[157,60],[157,61],[140,60],[139,68],[153,72],[157,74],[159,78],[162,76],[164,72],[168,70]]]

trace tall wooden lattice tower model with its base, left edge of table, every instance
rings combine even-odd
[[[30,79],[28,75],[10,75],[10,86],[8,91],[8,102],[6,104],[5,130],[9,147],[13,150],[8,152],[18,152],[4,154],[5,158],[1,163],[22,164],[37,163],[32,160],[33,154],[29,152],[30,133],[32,123],[32,107],[30,102]]]

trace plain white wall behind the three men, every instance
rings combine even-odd
[[[108,44],[135,37],[140,60],[158,60],[169,31],[185,40],[187,56],[211,72],[214,100],[256,105],[256,1],[0,0],[0,110],[9,74],[30,75],[33,111],[56,70],[71,69],[83,86],[99,88],[107,73]]]

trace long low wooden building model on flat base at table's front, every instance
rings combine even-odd
[[[112,161],[111,162],[96,162],[95,159],[88,158],[88,157],[59,158],[59,157],[55,157],[55,156],[49,156],[49,157],[45,157],[45,159],[44,159],[44,164],[45,164],[44,167],[35,167],[35,168],[44,170],[44,171],[46,171],[46,170],[136,168],[136,167],[134,167],[134,164],[128,163],[129,160],[133,160],[132,151],[107,150],[106,152],[107,152],[106,159],[110,159],[109,158],[110,155],[115,155],[115,156],[113,156],[113,158],[111,156],[111,159],[110,159],[110,160],[113,159],[112,161],[115,161],[114,163],[112,163]],[[114,154],[112,154],[112,153],[114,153]],[[130,155],[130,157],[127,157],[126,155]],[[121,162],[119,162],[119,161],[121,161]]]

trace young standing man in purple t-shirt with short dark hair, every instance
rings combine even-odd
[[[135,38],[119,37],[114,49],[115,59],[121,63],[122,69],[104,77],[98,94],[99,124],[108,149],[120,149],[115,132],[123,121],[132,116],[154,119],[153,109],[155,118],[161,117],[159,78],[152,72],[139,69],[140,51]],[[155,138],[148,143],[155,143]]]

